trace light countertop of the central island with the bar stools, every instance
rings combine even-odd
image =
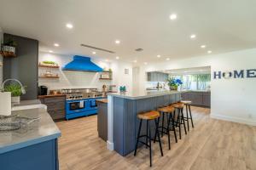
[[[115,93],[108,94],[109,96],[125,98],[125,99],[145,99],[157,96],[163,96],[168,94],[181,94],[183,91],[170,91],[170,90],[155,90],[155,91],[133,91],[133,92],[124,92],[124,93]]]

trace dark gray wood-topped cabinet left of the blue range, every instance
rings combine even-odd
[[[65,96],[42,98],[40,100],[42,104],[47,105],[47,111],[53,120],[65,118]]]

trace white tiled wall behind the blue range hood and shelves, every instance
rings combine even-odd
[[[126,85],[128,88],[131,87],[132,72],[129,75],[124,74],[124,69],[131,69],[131,65],[113,62],[112,64],[107,62],[102,62],[101,60],[93,60],[94,63],[100,65],[102,68],[107,70],[111,68],[113,70],[113,81],[99,80],[100,73],[96,72],[83,72],[83,71],[61,71],[61,68],[73,60],[73,55],[60,55],[60,54],[49,54],[40,52],[39,62],[44,60],[55,61],[60,65],[60,69],[51,69],[51,71],[60,76],[59,79],[44,79],[39,78],[38,83],[40,85],[45,85],[49,89],[60,89],[60,88],[98,88],[102,89],[102,85],[114,84],[117,86]],[[45,72],[46,68],[39,68],[38,74]]]

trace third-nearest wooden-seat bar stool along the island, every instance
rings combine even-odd
[[[178,127],[178,133],[179,133],[179,139],[181,139],[181,125],[183,124],[185,134],[187,134],[187,129],[185,125],[185,120],[183,116],[183,103],[176,103],[172,104],[172,107],[174,107],[177,110],[177,115],[176,112],[174,112],[174,119],[176,119],[176,127]]]

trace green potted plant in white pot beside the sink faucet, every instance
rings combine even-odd
[[[4,91],[11,93],[13,103],[20,103],[22,89],[19,84],[9,84],[8,86],[4,87]]]

